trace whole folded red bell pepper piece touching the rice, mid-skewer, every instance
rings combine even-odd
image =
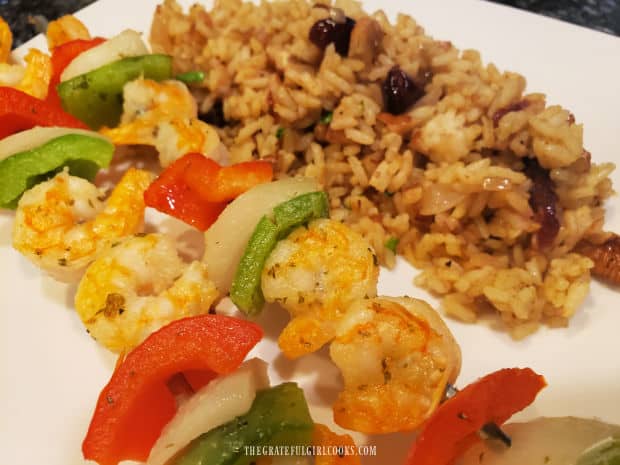
[[[271,181],[263,161],[221,167],[199,153],[188,153],[166,168],[144,193],[147,206],[206,231],[226,203],[257,184]]]

